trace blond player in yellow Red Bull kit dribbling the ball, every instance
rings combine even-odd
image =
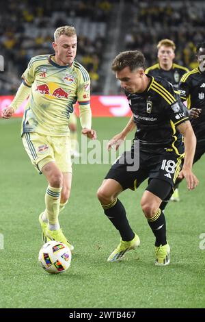
[[[61,231],[58,216],[70,196],[72,164],[68,121],[73,104],[79,102],[82,134],[96,138],[91,129],[90,77],[74,60],[77,34],[74,27],[59,27],[54,33],[53,55],[33,57],[23,73],[23,83],[8,108],[2,112],[9,119],[28,96],[21,135],[23,145],[36,169],[48,181],[45,210],[40,214],[43,240],[59,240],[74,247]]]

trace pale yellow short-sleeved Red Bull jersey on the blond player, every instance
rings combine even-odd
[[[31,58],[23,73],[23,82],[31,87],[21,132],[37,132],[47,136],[67,136],[68,120],[73,104],[90,108],[90,76],[76,60],[60,66],[53,55]]]

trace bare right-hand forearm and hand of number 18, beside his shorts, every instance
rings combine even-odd
[[[199,183],[197,177],[192,172],[193,158],[195,154],[196,138],[190,121],[185,121],[177,126],[178,131],[184,137],[184,164],[180,171],[179,178],[183,177],[187,181],[187,188],[194,189]]]

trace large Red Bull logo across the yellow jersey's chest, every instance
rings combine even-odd
[[[37,85],[35,91],[42,95],[46,95],[49,99],[68,99],[68,96],[70,95],[70,90],[66,91],[55,83]]]

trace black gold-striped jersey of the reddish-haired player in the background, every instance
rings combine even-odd
[[[174,85],[176,88],[178,88],[178,84],[180,82],[180,79],[184,73],[187,73],[189,69],[187,69],[184,66],[180,66],[178,64],[172,64],[172,69],[169,69],[169,71],[165,71],[165,69],[161,69],[161,66],[159,64],[154,64],[153,66],[150,66],[148,69],[146,69],[146,74],[149,74],[153,77],[162,77],[167,80],[167,82]]]

